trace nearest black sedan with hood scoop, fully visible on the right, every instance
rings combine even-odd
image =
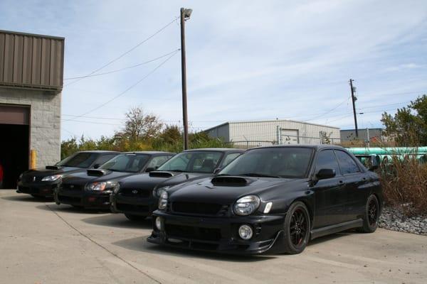
[[[160,193],[148,241],[234,254],[300,253],[310,239],[378,226],[378,176],[339,146],[253,148],[214,178]]]

